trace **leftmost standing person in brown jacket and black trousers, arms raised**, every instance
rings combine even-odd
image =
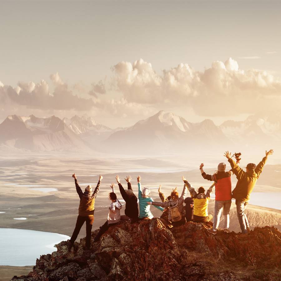
[[[75,173],[72,175],[72,177],[75,181],[76,191],[80,198],[80,204],[75,229],[70,238],[68,249],[70,250],[72,248],[82,225],[86,221],[86,249],[89,250],[91,246],[91,230],[94,223],[95,199],[100,190],[102,175],[100,175],[94,192],[92,192],[91,185],[88,185],[85,189],[85,192],[83,192],[78,184]]]

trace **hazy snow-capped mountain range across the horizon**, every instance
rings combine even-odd
[[[278,115],[249,116],[245,121],[229,120],[216,126],[209,119],[191,123],[164,111],[131,127],[116,129],[85,116],[60,119],[12,115],[0,124],[0,132],[0,145],[4,147],[35,151],[78,148],[130,154],[271,146],[281,140]]]

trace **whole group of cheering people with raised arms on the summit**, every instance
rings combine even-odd
[[[115,193],[115,184],[111,183],[111,192],[109,193],[109,199],[111,204],[109,206],[109,212],[106,222],[100,227],[98,234],[96,235],[94,242],[100,240],[101,235],[106,230],[118,224],[122,219],[130,219],[131,224],[136,223],[142,219],[152,219],[153,214],[150,211],[150,205],[163,212],[161,219],[172,224],[173,226],[179,226],[185,224],[186,221],[193,221],[195,223],[204,223],[211,221],[213,216],[208,214],[208,204],[210,201],[211,193],[215,189],[215,205],[214,205],[214,222],[213,228],[208,229],[211,234],[217,234],[219,227],[220,216],[223,212],[224,215],[224,232],[229,231],[229,210],[231,207],[232,198],[235,199],[237,216],[241,228],[241,234],[238,238],[245,238],[250,232],[249,221],[245,214],[245,209],[249,203],[250,193],[252,192],[269,155],[273,154],[273,150],[265,152],[265,156],[262,161],[256,166],[253,163],[249,163],[246,166],[246,171],[239,167],[239,162],[235,162],[232,159],[231,153],[225,152],[224,156],[230,163],[231,170],[226,171],[226,164],[219,163],[218,170],[213,175],[208,175],[204,172],[204,164],[200,165],[200,172],[204,179],[213,181],[214,183],[205,192],[205,189],[201,186],[198,191],[192,187],[192,185],[182,176],[184,182],[181,196],[177,188],[173,189],[170,196],[165,197],[161,192],[161,185],[158,192],[161,202],[155,202],[150,196],[150,188],[141,188],[141,176],[137,177],[138,183],[138,197],[134,194],[131,186],[131,176],[125,178],[128,188],[124,189],[120,182],[120,177],[116,175],[116,181],[119,186],[119,190],[123,200],[125,201],[125,216],[121,216],[122,204],[117,199]],[[237,184],[233,191],[231,191],[231,176],[235,175],[237,178]],[[76,175],[72,177],[75,180],[76,191],[80,198],[80,204],[78,209],[78,217],[76,226],[69,241],[69,249],[73,246],[79,231],[86,221],[86,249],[91,245],[91,229],[94,222],[94,205],[95,199],[99,192],[99,187],[102,175],[99,177],[99,181],[94,191],[92,191],[91,185],[88,185],[83,192],[78,184]],[[186,197],[187,191],[190,193],[190,197]],[[139,201],[139,202],[138,202]],[[185,206],[184,206],[185,203]]]

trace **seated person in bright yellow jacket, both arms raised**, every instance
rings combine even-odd
[[[190,185],[190,183],[182,176],[182,180],[187,185],[188,191],[190,192],[191,197],[194,200],[194,209],[193,209],[193,221],[194,222],[207,222],[213,219],[211,214],[208,214],[208,204],[210,200],[210,194],[213,191],[214,184],[210,186],[205,194],[204,187],[199,187],[198,193]]]

